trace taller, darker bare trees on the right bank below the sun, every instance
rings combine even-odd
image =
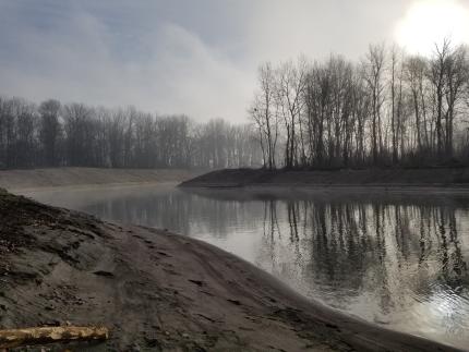
[[[359,63],[265,63],[250,114],[267,168],[467,163],[468,49],[370,46]]]

